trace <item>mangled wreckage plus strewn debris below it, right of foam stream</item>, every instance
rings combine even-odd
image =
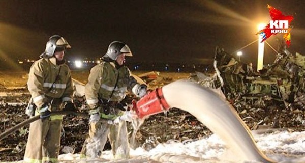
[[[305,56],[280,44],[273,64],[259,72],[217,47],[214,74],[190,75],[203,87],[219,89],[250,129],[305,130]]]

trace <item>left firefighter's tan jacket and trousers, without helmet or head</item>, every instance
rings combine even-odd
[[[27,86],[37,110],[46,102],[51,104],[51,111],[58,111],[62,101],[72,101],[70,69],[64,62],[56,64],[54,57],[34,62]],[[30,124],[23,162],[58,162],[62,119],[52,115]]]

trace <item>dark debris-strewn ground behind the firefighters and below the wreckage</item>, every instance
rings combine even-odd
[[[138,72],[140,74],[142,72]],[[86,83],[88,71],[74,71],[72,76]],[[188,78],[189,73],[160,73],[155,79],[147,79],[149,88],[154,89],[166,85],[180,78]],[[25,86],[26,72],[0,73],[0,133],[26,120],[24,114],[26,102],[29,99]],[[19,87],[19,89],[17,88]],[[9,88],[9,89],[7,89]],[[5,96],[6,95],[6,96]],[[18,105],[14,104],[18,103]],[[236,108],[240,117],[251,129],[280,128],[285,130],[305,130],[304,111],[302,108],[286,108],[273,103],[265,108],[239,107]],[[9,135],[0,141],[0,161],[22,160],[27,141],[28,127]],[[79,153],[88,131],[88,119],[66,116],[63,121],[63,134],[60,153]],[[129,123],[129,131],[132,126]],[[146,150],[155,147],[158,143],[180,141],[183,143],[207,137],[211,132],[187,112],[173,108],[167,113],[150,116],[140,127],[136,135],[136,146]],[[67,148],[69,147],[69,148]],[[105,149],[109,150],[109,143]],[[69,149],[69,150],[67,150]]]

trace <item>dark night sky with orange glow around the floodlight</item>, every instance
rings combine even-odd
[[[121,40],[133,61],[204,62],[217,45],[231,53],[256,40],[256,24],[270,20],[267,4],[294,14],[289,50],[305,54],[301,0],[0,0],[0,57],[38,59],[49,36],[59,34],[72,46],[70,59],[102,57],[111,41]],[[267,41],[276,47],[275,40]],[[265,52],[272,62],[275,53]],[[257,44],[243,53],[243,61],[256,60]]]

